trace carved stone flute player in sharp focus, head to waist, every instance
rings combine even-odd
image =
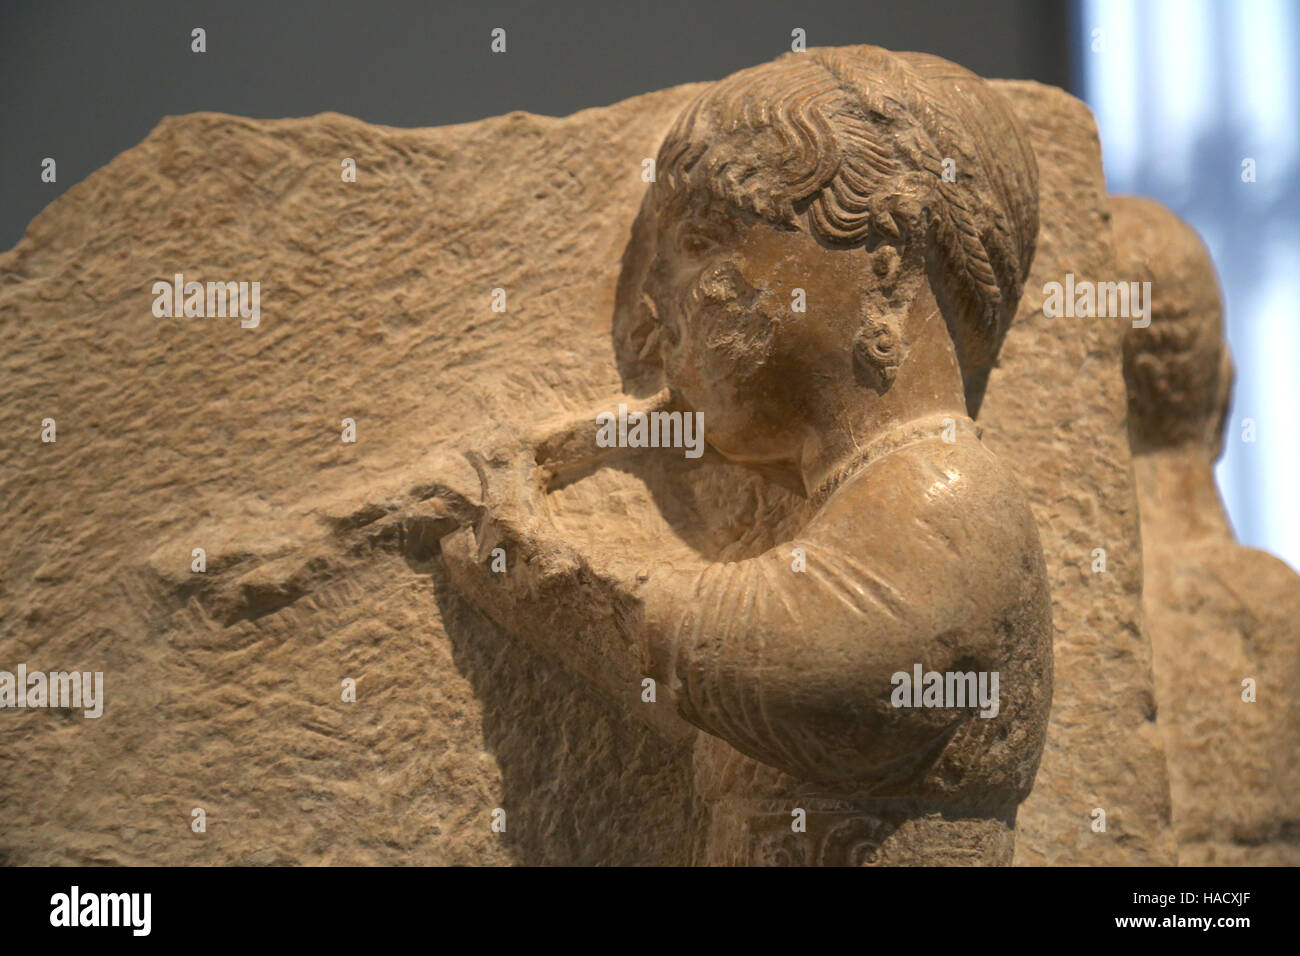
[[[1050,602],[1024,496],[967,402],[1034,255],[1018,121],[936,57],[816,49],[707,87],[656,170],[615,337],[623,367],[662,367],[667,393],[633,416],[701,416],[711,451],[794,489],[805,520],[737,561],[576,545],[546,489],[620,450],[595,460],[597,418],[498,432],[472,454],[474,527],[442,544],[454,583],[623,696],[641,679],[603,659],[640,659],[659,695],[641,709],[710,735],[697,775],[734,777],[741,754],[783,771],[783,799],[719,793],[711,858],[1009,862],[1050,701]],[[607,646],[575,646],[572,615],[592,613],[575,594],[618,607]],[[892,702],[914,671],[968,675],[970,697]],[[983,711],[976,679],[1000,695]],[[790,836],[800,812],[806,838]]]

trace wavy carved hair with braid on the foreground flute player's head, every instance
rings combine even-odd
[[[675,191],[802,224],[832,245],[926,241],[978,406],[1039,229],[1034,152],[983,79],[879,47],[786,53],[708,86],[679,116],[656,169]]]

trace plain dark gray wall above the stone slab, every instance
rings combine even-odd
[[[564,116],[770,60],[794,27],[809,46],[922,49],[1067,87],[1069,23],[1054,0],[0,0],[0,250],[172,113]],[[489,49],[498,26],[504,55]],[[40,181],[46,156],[55,183]]]

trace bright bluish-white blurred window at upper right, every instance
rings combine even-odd
[[[1169,206],[1218,267],[1236,385],[1216,473],[1232,527],[1300,570],[1300,4],[1080,0],[1075,27],[1110,191]]]

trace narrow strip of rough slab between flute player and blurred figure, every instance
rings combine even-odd
[[[1143,627],[1141,544],[1124,431],[1127,320],[1048,319],[1043,287],[1115,269],[1092,114],[1060,90],[1000,86],[1039,157],[1039,248],[980,411],[1024,486],[1052,579],[1056,692],[1015,862],[1173,864],[1169,783]],[[1093,550],[1106,571],[1095,572]],[[1106,814],[1095,832],[1093,810]]]

